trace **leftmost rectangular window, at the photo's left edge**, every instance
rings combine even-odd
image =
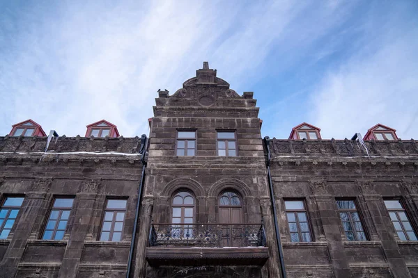
[[[0,208],[0,239],[5,239],[15,224],[24,197],[6,197]]]

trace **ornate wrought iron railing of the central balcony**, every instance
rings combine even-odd
[[[265,247],[263,224],[152,224],[150,247]]]

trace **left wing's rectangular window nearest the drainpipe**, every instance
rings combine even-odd
[[[125,199],[108,199],[102,224],[101,241],[121,241],[126,213]]]

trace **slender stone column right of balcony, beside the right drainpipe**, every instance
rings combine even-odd
[[[270,258],[267,261],[268,277],[281,277],[279,250],[277,249],[276,231],[274,230],[272,202],[269,197],[260,199],[265,236]]]

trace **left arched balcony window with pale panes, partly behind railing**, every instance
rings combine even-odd
[[[194,197],[187,191],[180,191],[171,202],[171,222],[174,224],[173,237],[191,237],[192,226],[185,225],[194,222]],[[178,224],[178,225],[175,225]]]

